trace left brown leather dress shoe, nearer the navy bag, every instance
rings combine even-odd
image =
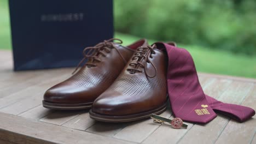
[[[137,47],[148,45],[145,39],[127,47],[121,46],[121,43],[120,39],[110,39],[94,47],[86,47],[78,67],[86,58],[88,62],[69,79],[48,89],[43,106],[59,110],[89,109],[94,100],[117,79]]]

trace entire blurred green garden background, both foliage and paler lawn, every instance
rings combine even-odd
[[[241,13],[239,14],[241,17],[236,17],[233,14],[235,10],[224,10],[223,5],[214,8],[210,4],[213,2],[209,0],[186,2],[184,0],[116,0],[114,1],[115,29],[119,32],[135,34],[137,37],[118,32],[115,32],[114,37],[123,39],[124,45],[131,44],[141,37],[152,38],[149,39],[150,44],[157,40],[175,40],[179,47],[184,47],[191,53],[196,69],[201,72],[256,78],[256,57],[255,55],[248,57],[244,54],[255,53],[255,41],[253,41],[254,24],[256,24],[254,22],[255,4],[251,1],[244,1],[243,10],[242,1],[234,0],[240,5]],[[205,8],[206,2],[207,8]],[[214,3],[217,2],[223,3],[214,0]],[[228,2],[231,1],[225,0],[225,3]],[[233,3],[232,5],[234,6]],[[223,14],[219,14],[218,9],[222,10]],[[246,15],[242,14],[245,13],[244,11]],[[235,13],[238,12],[235,11]],[[219,16],[216,16],[216,13]],[[224,15],[233,15],[235,19],[225,19]],[[246,22],[242,21],[244,19]],[[8,0],[0,0],[0,50],[11,49],[9,21]],[[202,21],[205,23],[200,23]],[[224,27],[226,25],[228,28]],[[236,33],[238,34],[235,35]],[[248,43],[245,42],[246,40]],[[220,49],[207,49],[213,46],[244,53],[236,54]]]

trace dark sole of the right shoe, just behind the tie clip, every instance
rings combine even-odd
[[[147,112],[137,113],[134,115],[126,115],[126,116],[108,116],[108,115],[101,115],[95,112],[92,112],[92,110],[89,111],[90,117],[92,119],[95,119],[96,121],[101,122],[113,122],[113,123],[119,123],[119,122],[132,122],[137,121],[139,119],[148,118],[152,115],[152,113],[159,115],[160,113],[164,112],[166,110],[166,103],[157,109],[150,110]]]

